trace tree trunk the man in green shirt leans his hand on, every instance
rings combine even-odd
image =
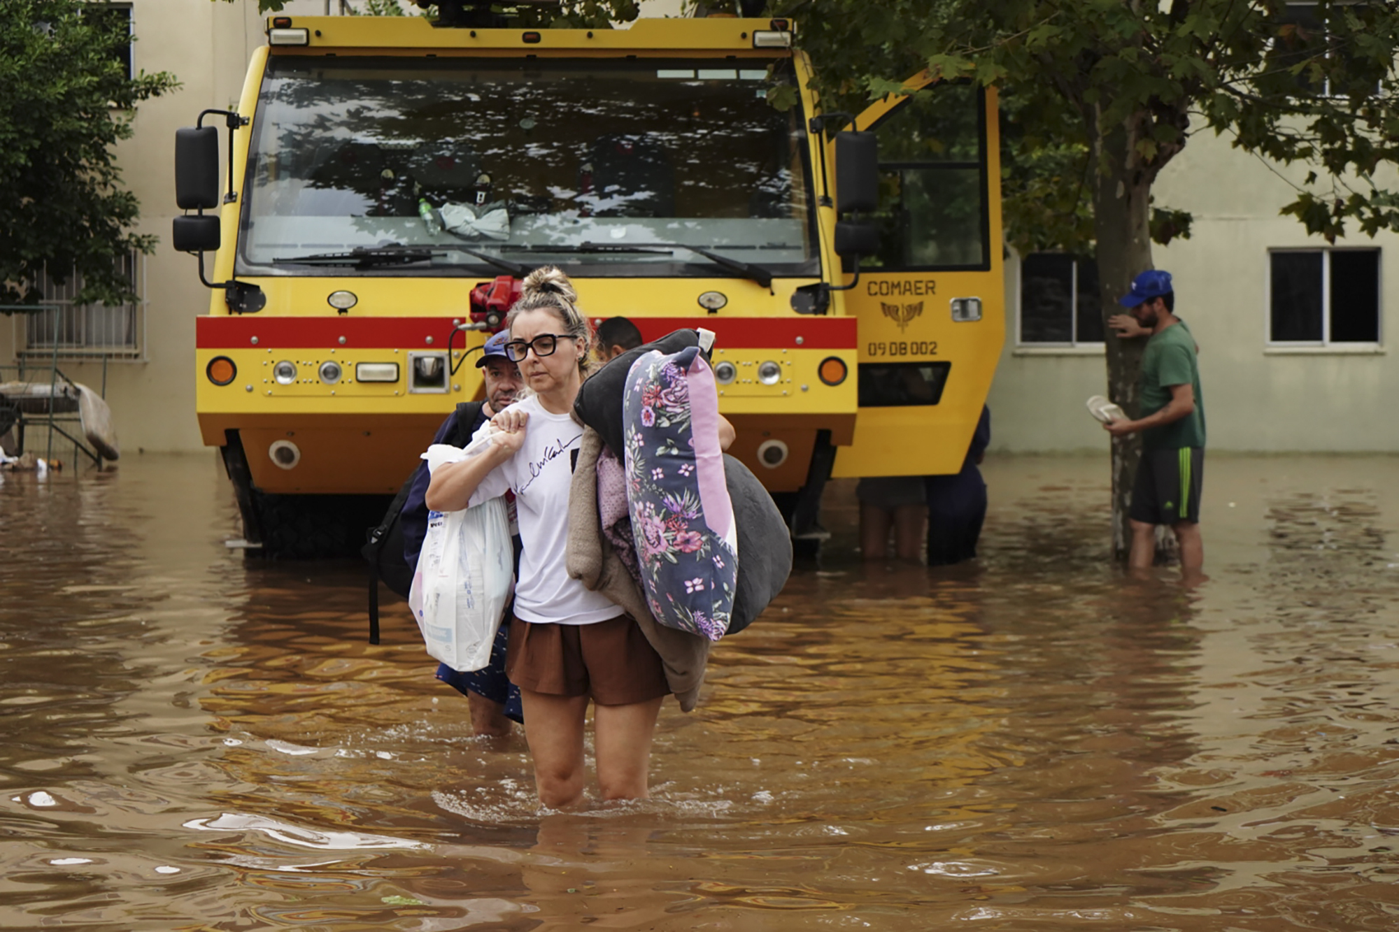
[[[1151,267],[1151,176],[1154,172],[1128,169],[1132,153],[1128,134],[1100,137],[1101,171],[1093,192],[1094,232],[1097,235],[1098,283],[1104,322],[1125,311],[1118,298],[1132,287],[1132,278]],[[1119,150],[1121,151],[1115,151]],[[1122,406],[1128,417],[1137,417],[1142,350],[1146,339],[1119,340],[1108,329],[1108,397]],[[1126,560],[1132,547],[1128,505],[1132,480],[1142,459],[1142,437],[1132,434],[1112,439],[1112,553]]]

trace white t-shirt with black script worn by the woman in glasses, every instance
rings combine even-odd
[[[589,591],[568,575],[568,490],[574,481],[574,456],[583,428],[568,414],[550,414],[530,396],[506,410],[529,413],[525,445],[492,469],[471,504],[515,493],[519,518],[520,575],[515,584],[515,614],[523,621],[593,624],[623,614],[621,606]],[[485,430],[484,427],[481,430]]]

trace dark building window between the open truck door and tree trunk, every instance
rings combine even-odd
[[[1035,252],[1020,260],[1021,346],[1102,346],[1098,264]]]

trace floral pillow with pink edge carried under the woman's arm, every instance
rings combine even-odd
[[[627,505],[656,621],[718,641],[739,570],[719,393],[698,347],[632,362],[623,397]]]

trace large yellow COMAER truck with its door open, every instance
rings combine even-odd
[[[832,115],[785,20],[467,22],[270,17],[236,112],[178,134],[199,423],[249,546],[376,523],[540,264],[597,320],[713,330],[732,452],[789,509],[961,467],[1004,337],[993,91]]]

